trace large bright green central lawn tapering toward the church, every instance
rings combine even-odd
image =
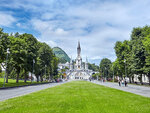
[[[150,98],[73,81],[0,102],[0,113],[150,113]]]

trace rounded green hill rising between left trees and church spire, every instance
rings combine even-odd
[[[60,63],[66,63],[66,62],[70,62],[70,58],[69,56],[66,54],[66,52],[64,50],[62,50],[59,47],[54,47],[53,48],[53,52],[56,55],[56,57],[59,58],[59,62]]]

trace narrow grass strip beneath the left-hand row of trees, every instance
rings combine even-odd
[[[0,88],[3,87],[4,78],[0,78]],[[40,83],[40,82],[39,82]],[[19,80],[19,83],[16,83],[15,79],[8,79],[8,83],[5,83],[5,87],[14,87],[14,86],[22,86],[22,85],[30,85],[31,81],[27,81],[24,83],[24,80]],[[32,84],[38,84],[37,82],[32,82]]]

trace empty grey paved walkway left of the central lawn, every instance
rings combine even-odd
[[[18,96],[22,96],[22,95],[26,95],[26,94],[29,94],[32,92],[36,92],[36,91],[39,91],[42,89],[54,87],[54,86],[64,84],[64,83],[66,83],[66,82],[41,84],[41,85],[18,87],[18,88],[12,88],[12,89],[2,89],[2,90],[0,90],[0,101],[18,97]]]

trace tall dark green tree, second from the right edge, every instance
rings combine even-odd
[[[142,83],[142,75],[145,74],[145,48],[143,45],[144,37],[150,34],[150,27],[134,28],[131,34],[131,49],[132,49],[132,67],[135,74],[139,75],[139,80]]]

